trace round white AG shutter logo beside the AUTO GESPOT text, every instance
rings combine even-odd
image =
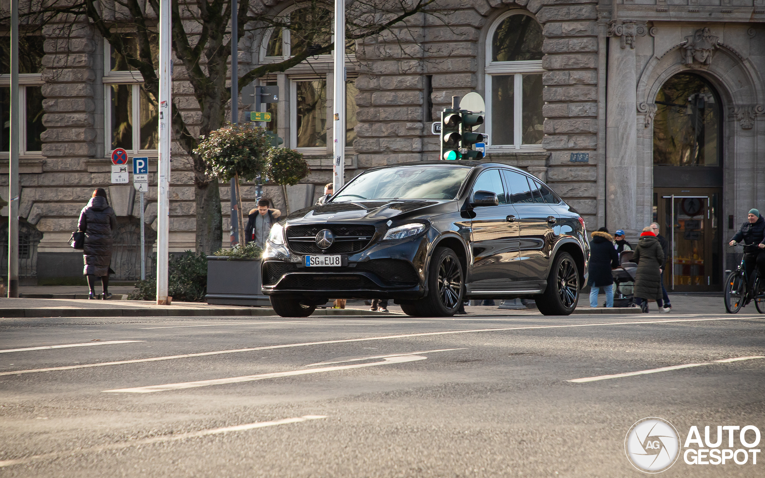
[[[624,452],[633,467],[646,473],[661,473],[675,464],[680,440],[675,427],[662,418],[636,421],[624,440]]]

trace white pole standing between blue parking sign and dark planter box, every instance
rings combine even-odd
[[[157,198],[157,304],[168,304],[168,259],[170,255],[170,146],[172,97],[171,0],[160,0],[159,8],[159,165]]]

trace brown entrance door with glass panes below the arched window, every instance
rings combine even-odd
[[[721,284],[718,188],[656,188],[656,222],[669,241],[667,291],[718,291]]]

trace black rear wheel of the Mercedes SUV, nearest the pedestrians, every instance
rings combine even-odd
[[[547,288],[536,301],[545,315],[569,315],[579,301],[579,270],[574,258],[562,252],[555,258],[547,278]]]

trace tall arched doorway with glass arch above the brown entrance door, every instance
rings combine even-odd
[[[656,94],[653,217],[669,241],[668,291],[716,291],[722,280],[722,104],[703,76],[679,73]]]

